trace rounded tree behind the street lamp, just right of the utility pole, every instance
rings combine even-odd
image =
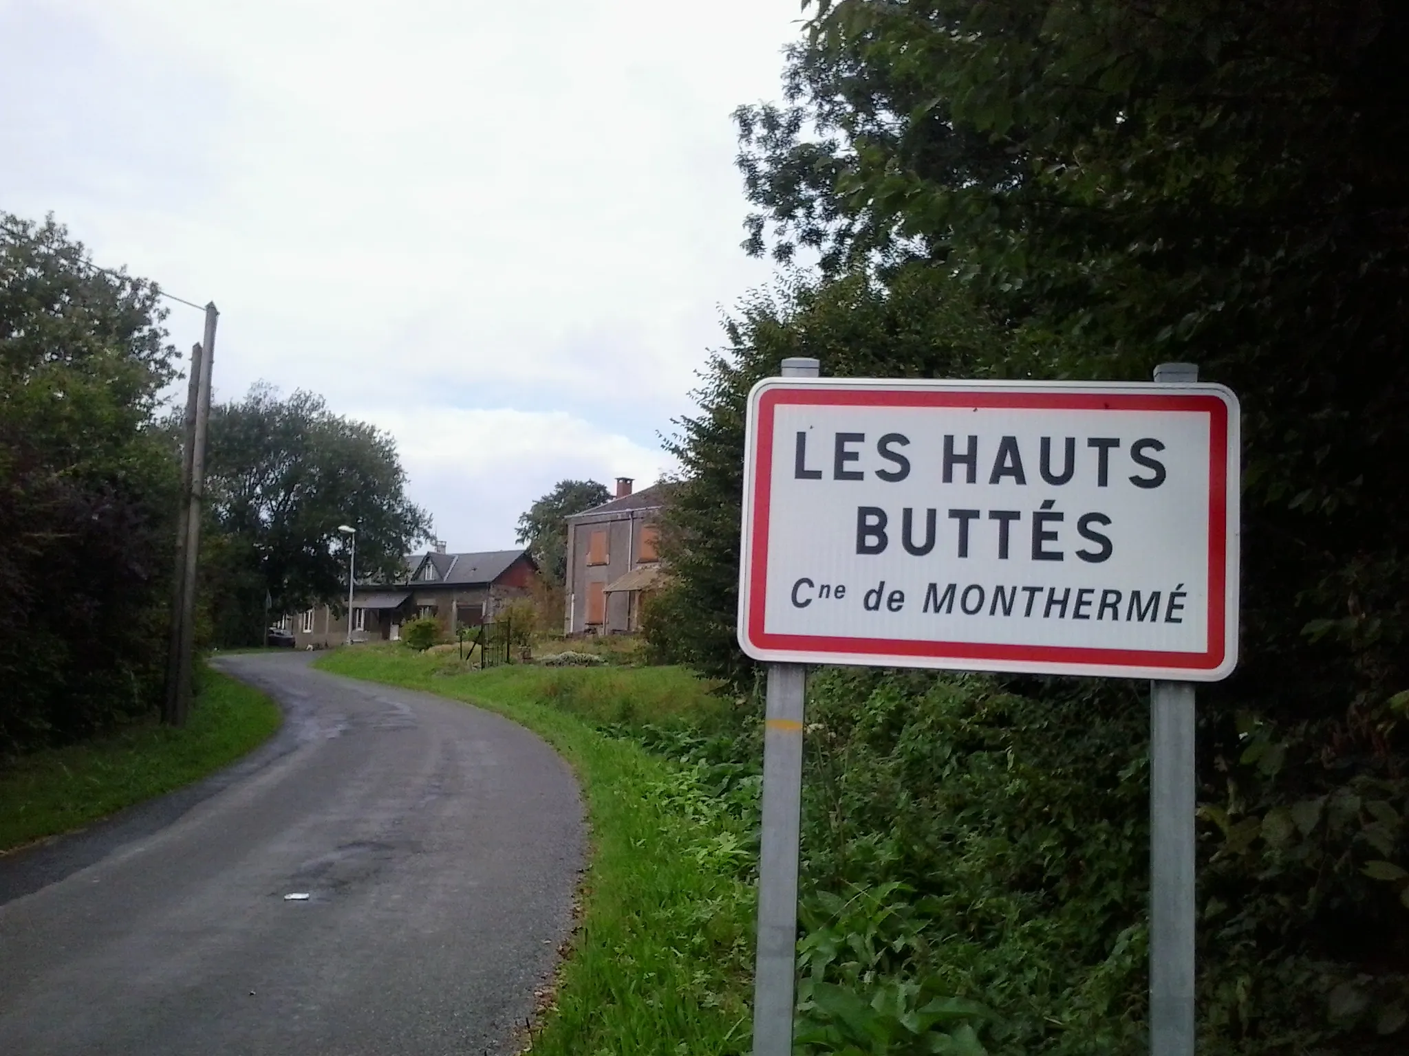
[[[280,398],[256,384],[213,407],[206,467],[206,594],[223,645],[259,641],[266,593],[275,612],[345,597],[349,541],[340,525],[356,528],[359,580],[403,577],[404,555],[430,536],[430,517],[406,497],[395,441],[311,393]]]

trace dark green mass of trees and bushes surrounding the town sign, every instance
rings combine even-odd
[[[679,424],[654,649],[754,687],[733,635],[743,408],[779,359],[1200,363],[1240,394],[1246,448],[1243,666],[1200,691],[1200,1052],[1401,1052],[1409,13],[810,7],[785,104],[737,117],[750,249],[820,268],[743,307]],[[995,1052],[1140,1052],[1144,687],[833,672],[810,708],[819,983],[902,1011],[978,1000]]]

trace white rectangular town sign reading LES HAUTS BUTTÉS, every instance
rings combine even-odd
[[[1239,404],[1217,384],[769,379],[750,656],[1216,681],[1237,663]]]

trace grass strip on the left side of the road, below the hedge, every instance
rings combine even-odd
[[[156,722],[21,756],[0,770],[0,850],[82,828],[113,811],[190,784],[245,755],[279,728],[279,708],[203,667],[183,729]]]

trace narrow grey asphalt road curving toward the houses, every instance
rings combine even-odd
[[[0,1053],[516,1050],[583,865],[572,774],[307,659],[220,660],[287,712],[244,763],[0,857]]]

